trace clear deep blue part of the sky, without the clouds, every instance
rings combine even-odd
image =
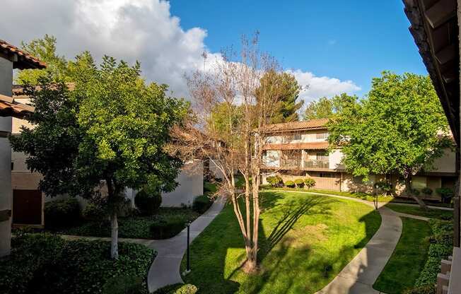
[[[184,30],[207,31],[211,52],[260,32],[260,47],[286,69],[351,80],[362,90],[383,70],[426,74],[401,0],[170,1]]]

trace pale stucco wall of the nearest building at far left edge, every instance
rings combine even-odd
[[[13,63],[0,57],[0,94],[11,96]],[[0,131],[11,132],[11,117],[0,117]],[[0,137],[0,211],[11,210],[11,146],[8,138]],[[0,257],[10,253],[11,218],[0,222]]]

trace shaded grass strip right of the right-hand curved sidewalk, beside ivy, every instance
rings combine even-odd
[[[387,294],[404,293],[412,288],[428,256],[431,228],[424,220],[402,218],[403,229],[384,270],[373,288]]]

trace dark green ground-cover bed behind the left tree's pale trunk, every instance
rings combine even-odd
[[[129,216],[119,218],[119,237],[136,239],[154,239],[151,225],[166,222],[172,223],[162,238],[173,237],[186,227],[188,221],[192,221],[200,214],[191,208],[165,208],[161,207],[153,216]],[[78,225],[61,230],[53,230],[54,233],[65,235],[79,235],[92,237],[110,237],[110,223],[107,221],[82,220]]]

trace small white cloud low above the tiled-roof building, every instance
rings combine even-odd
[[[328,76],[315,76],[309,71],[290,70],[296,80],[303,87],[300,92],[300,99],[308,103],[321,97],[331,97],[341,93],[354,94],[361,90],[353,81],[341,81],[338,78]]]

